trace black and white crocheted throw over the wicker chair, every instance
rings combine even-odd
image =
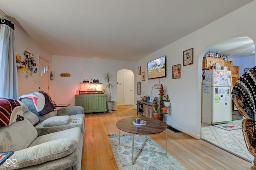
[[[233,95],[242,103],[242,109],[251,119],[256,113],[256,66],[244,73],[234,85]]]

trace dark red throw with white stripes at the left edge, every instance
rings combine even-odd
[[[23,111],[17,100],[0,98],[0,128],[22,120]]]

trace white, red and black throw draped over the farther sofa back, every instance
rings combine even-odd
[[[40,116],[56,110],[52,104],[51,97],[46,92],[34,92],[25,94],[20,96],[17,100],[21,100],[22,98],[32,99],[34,106],[36,107],[36,111]]]

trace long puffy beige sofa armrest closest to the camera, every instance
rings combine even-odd
[[[64,138],[18,150],[10,157],[16,159],[18,168],[42,164],[68,156],[78,147],[75,139]]]

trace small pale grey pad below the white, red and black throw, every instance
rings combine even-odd
[[[42,123],[42,127],[60,126],[68,124],[70,116],[54,116],[46,119]]]

